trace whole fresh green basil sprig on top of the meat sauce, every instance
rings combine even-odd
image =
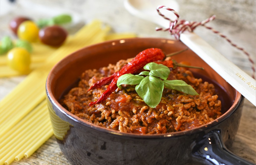
[[[135,90],[144,102],[151,108],[155,108],[161,101],[164,86],[169,89],[179,90],[186,94],[198,95],[194,88],[182,80],[167,80],[170,69],[162,64],[148,63],[139,75],[125,74],[118,78],[117,86],[129,84],[136,85]],[[144,76],[141,76],[144,75]],[[146,76],[146,77],[145,77]]]

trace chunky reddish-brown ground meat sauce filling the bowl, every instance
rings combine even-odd
[[[106,90],[107,85],[90,90],[89,87],[117,72],[127,60],[99,70],[86,70],[81,75],[78,87],[69,91],[61,100],[62,105],[74,115],[95,125],[121,132],[139,134],[159,134],[183,131],[201,126],[222,115],[221,101],[215,94],[213,84],[202,82],[186,68],[170,68],[168,80],[183,80],[191,85],[199,95],[191,96],[164,88],[161,102],[156,108],[150,108],[135,91],[135,85],[123,85],[117,88],[107,100],[88,106],[96,101]]]

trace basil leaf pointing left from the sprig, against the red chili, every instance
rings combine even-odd
[[[124,74],[120,76],[117,80],[117,86],[118,88],[122,88],[122,84],[129,84],[129,85],[136,85],[141,82],[141,80],[144,79],[143,76],[139,75],[133,75],[133,74]]]

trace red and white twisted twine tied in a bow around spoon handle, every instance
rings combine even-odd
[[[163,15],[159,9],[166,9],[169,10],[171,12],[173,12],[176,16],[176,19],[173,21],[171,19],[169,19],[168,17],[166,17],[165,15]],[[179,20],[179,14],[173,10],[170,9],[166,6],[158,6],[157,7],[157,12],[159,15],[161,15],[164,19],[167,19],[170,21],[170,25],[169,28],[163,29],[163,28],[156,28],[157,31],[162,30],[162,31],[169,31],[169,33],[174,36],[176,39],[179,40],[179,36],[181,33],[183,33],[184,31],[189,31],[189,32],[193,32],[193,30],[197,27],[197,26],[204,26],[207,29],[210,29],[211,31],[213,31],[215,34],[218,34],[219,36],[221,36],[222,38],[225,38],[232,46],[236,47],[238,50],[243,51],[243,53],[245,53],[245,55],[248,57],[250,63],[252,64],[252,71],[253,71],[253,75],[252,77],[254,78],[254,74],[255,74],[255,67],[254,67],[254,61],[251,59],[249,53],[247,51],[245,51],[243,48],[237,46],[236,44],[234,44],[230,39],[227,38],[227,36],[221,34],[221,32],[214,30],[213,28],[206,26],[205,24],[213,19],[215,19],[215,15],[211,16],[210,18],[203,20],[202,22],[195,22],[195,21],[186,21],[186,20]]]

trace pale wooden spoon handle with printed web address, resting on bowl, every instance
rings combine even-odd
[[[193,32],[183,32],[180,40],[213,68],[223,79],[256,106],[256,81],[205,40]]]

